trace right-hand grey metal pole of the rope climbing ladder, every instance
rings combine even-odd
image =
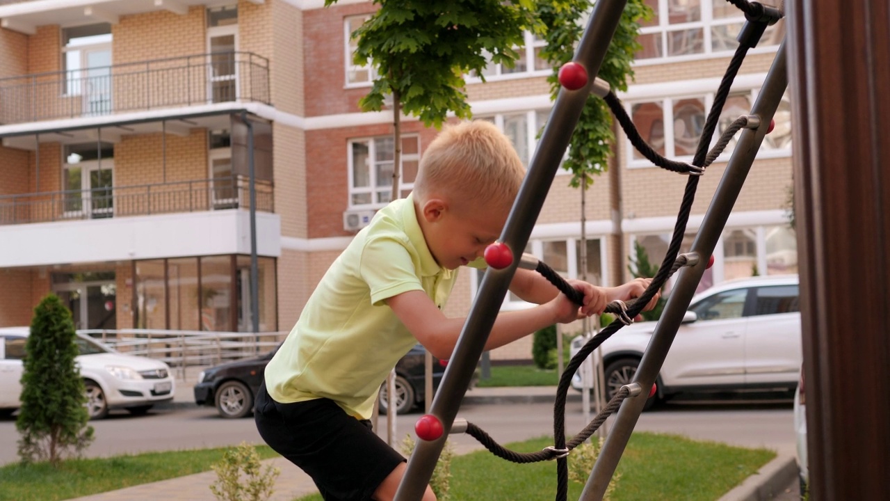
[[[702,220],[700,230],[692,242],[693,253],[697,253],[699,256],[710,256],[714,252],[714,247],[720,234],[723,233],[732,206],[739,197],[745,177],[748,176],[748,171],[754,163],[757,150],[763,143],[767,126],[773,119],[787,86],[785,44],[782,43],[776,53],[773,66],[766,76],[764,86],[760,94],[757,94],[757,100],[751,108],[751,114],[760,119],[761,125],[755,129],[745,128],[742,130],[739,142],[732,150],[732,157],[726,166],[724,176],[720,185],[717,186],[708,211]],[[667,350],[670,349],[677,329],[692,301],[692,296],[695,295],[707,262],[708,259],[700,259],[698,265],[684,267],[680,270],[676,285],[671,291],[649,347],[643,354],[643,359],[634,376],[634,382],[639,383],[641,387],[651,388],[655,382],[661,365],[667,357]],[[618,333],[618,335],[621,334]],[[587,485],[581,493],[582,500],[590,501],[603,498],[615,472],[615,467],[618,466],[619,459],[627,446],[627,440],[630,439],[636,421],[643,411],[644,404],[645,398],[627,398],[619,408],[616,421],[603,444],[603,450],[597,458]]]

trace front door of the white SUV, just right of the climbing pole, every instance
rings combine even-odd
[[[747,297],[747,288],[732,289],[690,307],[698,318],[677,330],[661,368],[663,384],[710,389],[744,382]]]

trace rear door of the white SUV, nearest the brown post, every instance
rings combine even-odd
[[[745,382],[795,385],[802,360],[797,285],[758,287],[748,316]]]

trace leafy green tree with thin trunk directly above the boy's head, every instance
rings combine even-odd
[[[325,5],[337,0],[325,0]],[[513,67],[523,30],[534,25],[535,0],[374,0],[380,8],[352,34],[353,62],[372,65],[378,77],[360,99],[362,111],[383,110],[392,95],[395,152],[392,198],[399,194],[401,113],[441,127],[449,111],[471,116],[467,74],[479,75],[490,61]]]

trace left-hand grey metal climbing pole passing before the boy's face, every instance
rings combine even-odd
[[[531,230],[538,220],[562,155],[578,124],[581,110],[587,103],[594,77],[600,70],[626,4],[627,0],[599,0],[594,4],[574,58],[575,62],[587,70],[590,78],[585,86],[576,90],[560,89],[538,149],[501,234],[500,242],[513,250],[514,256],[520,256],[529,241]],[[417,448],[408,462],[408,471],[396,492],[396,501],[414,501],[424,496],[426,485],[433,476],[433,469],[457,416],[457,409],[513,279],[517,262],[518,259],[514,259],[512,265],[500,270],[490,267],[483,276],[479,292],[473,300],[473,306],[427,415],[431,416],[433,422],[437,422],[437,426],[441,425],[441,436],[433,440],[418,440]]]

